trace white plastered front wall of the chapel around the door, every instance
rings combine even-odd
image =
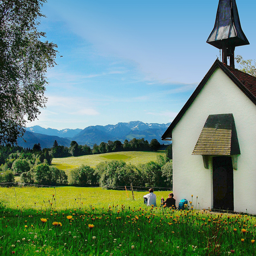
[[[209,115],[232,113],[241,154],[234,170],[234,211],[256,214],[256,106],[217,68],[172,131],[173,193],[176,204],[186,198],[195,209],[213,207],[212,166],[205,169],[201,155],[192,155]],[[198,203],[196,208],[198,209]]]

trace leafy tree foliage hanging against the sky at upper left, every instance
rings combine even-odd
[[[15,144],[45,107],[47,67],[57,45],[37,30],[45,0],[0,1],[0,145]]]

